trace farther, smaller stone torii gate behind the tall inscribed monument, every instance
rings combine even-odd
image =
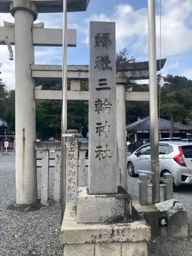
[[[157,71],[163,68],[166,59],[157,60]],[[56,79],[62,82],[61,65],[31,65],[32,77],[37,82]],[[118,185],[127,190],[127,162],[126,162],[126,110],[125,101],[149,101],[148,92],[132,91],[128,86],[130,80],[144,80],[149,78],[148,61],[116,65],[116,90],[117,90],[117,147],[118,147]],[[88,65],[68,65],[67,77],[71,79],[71,90],[67,91],[68,100],[89,101],[89,91],[80,90],[80,80],[88,80]],[[61,100],[62,91],[35,90],[35,99]]]

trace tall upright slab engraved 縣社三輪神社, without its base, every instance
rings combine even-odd
[[[117,193],[114,22],[90,22],[89,193]]]

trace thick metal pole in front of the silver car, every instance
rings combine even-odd
[[[152,203],[160,202],[155,0],[148,0],[148,52]]]

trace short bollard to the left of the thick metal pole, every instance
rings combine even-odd
[[[148,176],[147,174],[139,174],[139,204],[140,206],[148,205]]]

